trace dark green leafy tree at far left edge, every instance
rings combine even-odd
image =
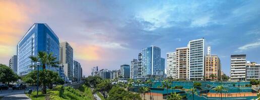
[[[19,79],[19,76],[5,64],[0,64],[0,81],[3,83],[15,82]]]

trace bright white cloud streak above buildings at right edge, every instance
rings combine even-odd
[[[248,44],[245,44],[243,46],[238,47],[236,52],[242,52],[242,51],[245,51],[245,50],[248,50],[248,49],[251,49],[251,48],[256,48],[256,47],[259,47],[259,46],[260,46],[260,41],[248,43]]]

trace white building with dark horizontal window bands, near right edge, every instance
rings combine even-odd
[[[231,55],[230,78],[233,81],[245,80],[246,78],[246,55]]]

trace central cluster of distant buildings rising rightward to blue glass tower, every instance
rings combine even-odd
[[[98,75],[101,78],[110,79],[143,79],[151,76],[163,76],[165,59],[161,57],[161,49],[154,45],[143,48],[138,54],[138,59],[130,61],[130,65],[123,64],[118,70],[98,69],[95,66],[91,69],[91,75]],[[109,74],[109,75],[108,75]]]

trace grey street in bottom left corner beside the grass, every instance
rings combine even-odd
[[[24,93],[25,91],[28,92],[29,89],[34,90],[35,86],[28,86],[26,90],[13,90],[9,88],[8,90],[0,90],[0,96],[4,96],[2,99],[25,99],[29,100],[30,98]]]

